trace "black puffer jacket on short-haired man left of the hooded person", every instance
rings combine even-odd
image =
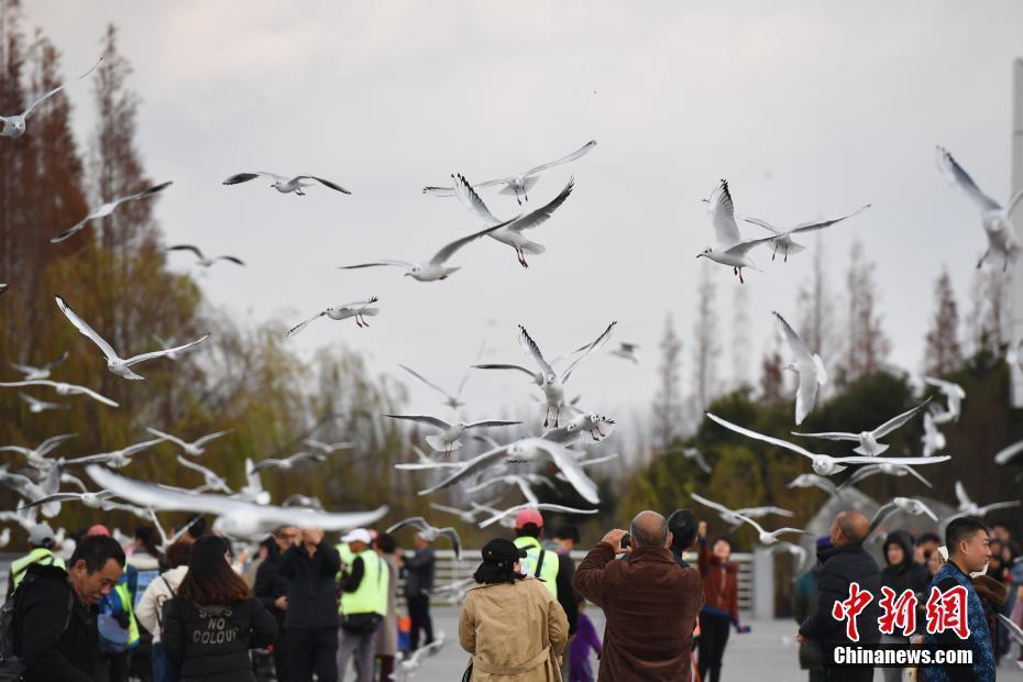
[[[817,606],[813,615],[800,626],[800,635],[821,642],[826,651],[829,646],[847,645],[846,622],[832,617],[835,602],[849,598],[849,585],[859,584],[860,590],[869,592],[873,598],[856,618],[861,644],[877,644],[881,640],[878,618],[881,609],[878,601],[881,594],[881,571],[873,557],[864,550],[862,544],[842,544],[817,552],[822,563],[817,581]]]

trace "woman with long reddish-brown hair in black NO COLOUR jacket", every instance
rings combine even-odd
[[[277,634],[274,616],[231,569],[230,549],[217,536],[196,540],[188,572],[164,604],[162,642],[183,682],[255,682],[249,649]]]

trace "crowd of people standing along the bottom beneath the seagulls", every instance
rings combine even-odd
[[[967,641],[950,631],[882,634],[878,597],[859,613],[858,642],[966,646],[971,667],[924,667],[916,679],[993,680],[1009,651],[996,614],[1019,622],[1023,609],[1023,564],[1009,529],[957,518],[944,538],[897,530],[884,538],[883,569],[865,548],[868,531],[861,514],[838,514],[817,540],[816,564],[796,581],[799,660],[811,682],[873,676],[869,668],[828,664],[833,648],[854,642],[833,613],[853,583],[872,595],[884,587],[912,592],[921,623],[933,587],[961,587]],[[749,631],[739,619],[738,564],[727,535],[708,537],[707,524],[686,509],[667,518],[646,510],[628,530],[604,535],[576,566],[571,552],[579,541],[571,526],[548,538],[542,515],[524,509],[514,537],[483,547],[459,618],[459,642],[470,657],[463,680],[723,679],[730,630]],[[363,528],[334,544],[319,529],[282,527],[252,556],[234,556],[201,520],[166,551],[151,528],[138,529],[123,547],[94,526],[65,561],[54,553],[53,530],[41,524],[29,543],[11,564],[0,612],[0,634],[13,653],[0,660],[0,676],[256,680],[262,661],[279,681],[344,680],[353,670],[359,682],[375,682],[392,679],[399,651],[435,639],[437,560],[419,535],[405,551],[393,536]],[[693,553],[695,564],[686,560]],[[603,638],[587,603],[603,612]],[[399,636],[402,606],[410,626]],[[252,650],[267,653],[254,662]],[[886,668],[882,675],[903,673]]]

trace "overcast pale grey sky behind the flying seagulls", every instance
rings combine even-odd
[[[63,51],[66,74],[92,63],[107,22],[120,28],[143,100],[147,172],[175,182],[157,211],[168,242],[250,264],[200,274],[215,305],[277,319],[283,332],[375,294],[382,312],[371,329],[321,321],[296,346],[344,343],[377,371],[404,362],[451,387],[484,337],[488,359],[526,364],[519,322],[557,355],[617,319],[616,340],[642,344],[646,362],[598,358],[570,388],[612,413],[646,407],[666,314],[686,341],[691,333],[703,263],[694,256],[713,243],[700,199],[722,177],[738,212],[779,223],[872,204],[825,235],[833,290],[859,237],[877,262],[892,359],[916,369],[939,268],[948,265],[965,308],[985,246],[974,207],[936,170],[934,145],[986,191],[1009,196],[1016,1],[32,0],[25,14]],[[91,87],[69,95],[85,141]],[[590,155],[531,194],[539,205],[575,175],[571,198],[534,233],[548,251],[528,271],[493,240],[460,252],[452,264],[463,270],[446,282],[334,270],[425,258],[482,227],[422,186],[454,172],[475,182],[510,174],[591,139]],[[250,169],[318,174],[353,194],[221,185]],[[508,197],[483,197],[498,216],[516,212]],[[754,258],[765,270],[746,284],[756,369],[770,311],[799,318],[812,254],[784,265],[767,251]],[[190,267],[187,255],[170,261]],[[714,276],[727,348],[739,284],[723,266]],[[688,375],[691,344],[684,353]],[[429,389],[411,388],[413,409],[443,414]],[[479,407],[471,416],[497,417],[484,413],[527,391],[518,376],[481,373],[466,389]]]

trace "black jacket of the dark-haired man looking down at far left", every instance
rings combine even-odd
[[[24,580],[19,586],[13,626],[14,651],[25,666],[24,679],[95,680],[99,664],[97,612],[74,595],[64,569],[32,564]]]

